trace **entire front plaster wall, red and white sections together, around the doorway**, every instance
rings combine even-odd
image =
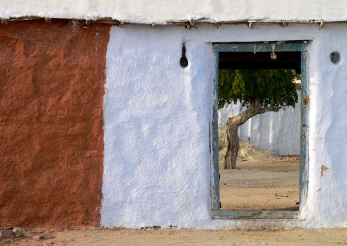
[[[346,24],[81,24],[0,26],[0,227],[347,226]],[[302,220],[212,220],[212,43],[300,39],[309,40]]]

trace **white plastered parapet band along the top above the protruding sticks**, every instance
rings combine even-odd
[[[13,0],[0,1],[0,17],[114,18],[133,23],[173,20],[347,20],[341,0]]]

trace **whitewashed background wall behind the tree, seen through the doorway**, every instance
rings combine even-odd
[[[240,102],[225,105],[218,111],[220,128],[226,129],[228,118],[237,116],[241,111]],[[278,112],[266,112],[250,118],[241,125],[240,140],[250,142],[261,149],[278,155],[300,154],[300,93],[299,102],[293,107]]]

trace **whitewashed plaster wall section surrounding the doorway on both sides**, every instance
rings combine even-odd
[[[112,27],[104,98],[102,226],[346,226],[346,25]],[[312,40],[309,186],[302,221],[212,220],[212,42]],[[189,66],[180,66],[182,42]],[[339,64],[329,60],[339,51]],[[321,176],[322,165],[330,168]],[[212,175],[213,176],[213,175]],[[317,192],[319,189],[319,192]]]

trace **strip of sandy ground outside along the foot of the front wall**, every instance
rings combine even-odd
[[[43,235],[36,240],[33,236]],[[0,245],[347,245],[347,228],[297,230],[78,229],[26,231]]]

